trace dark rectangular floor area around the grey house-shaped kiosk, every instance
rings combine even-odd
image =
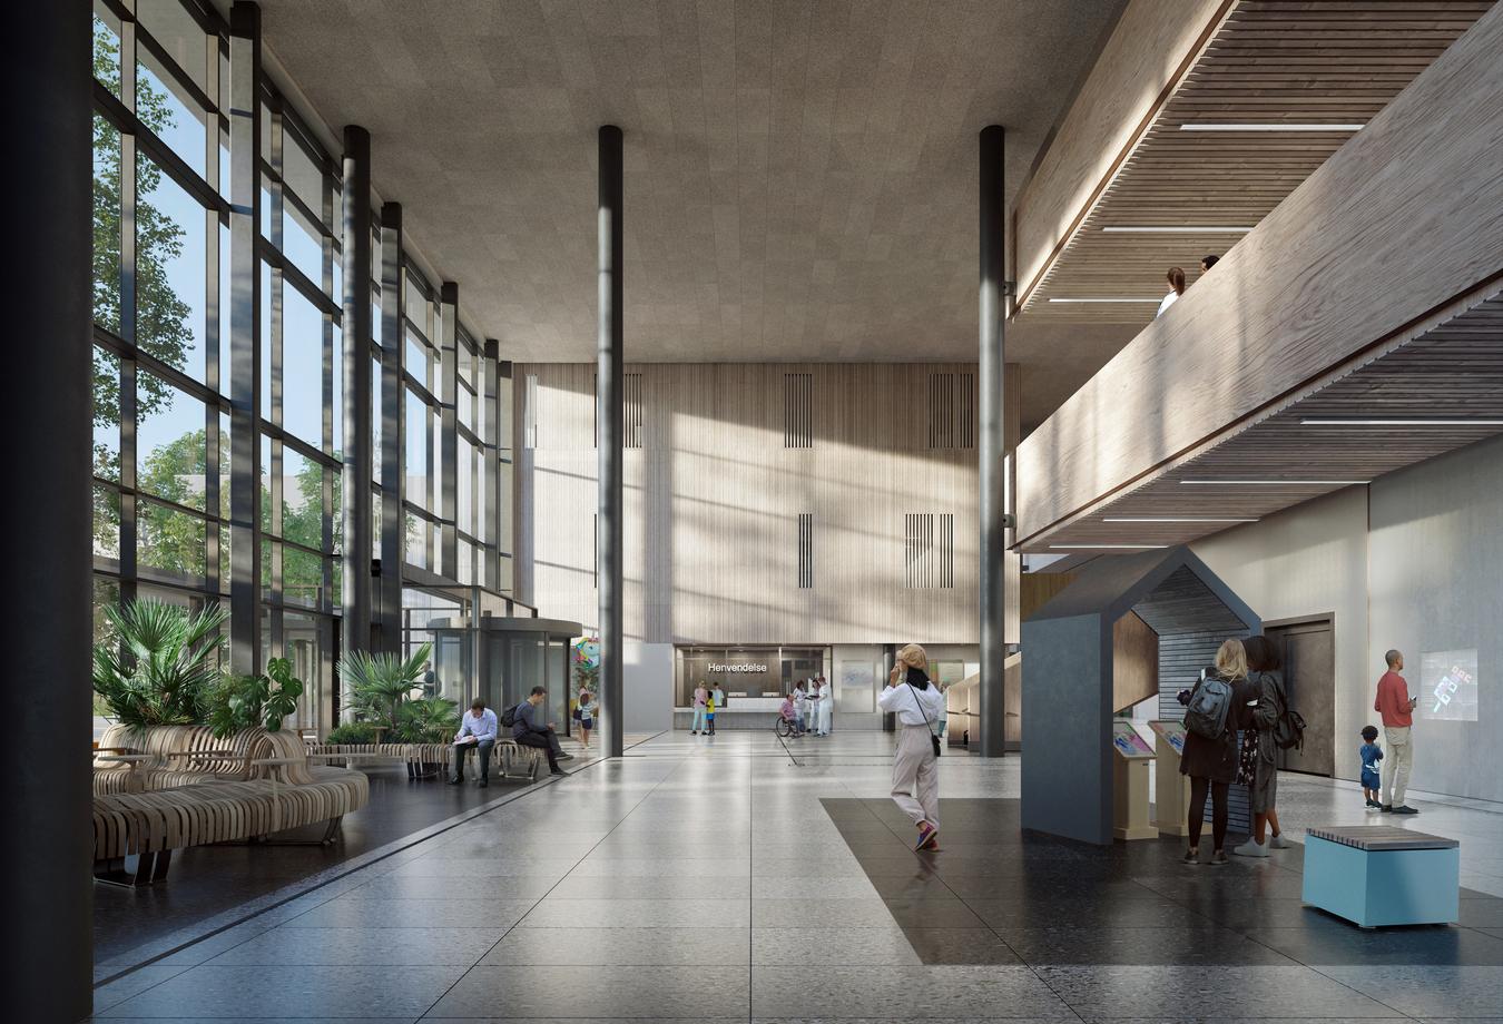
[[[1503,898],[1464,889],[1459,925],[1363,931],[1302,905],[1299,845],[1187,866],[1181,839],[1091,847],[972,798],[942,800],[942,850],[915,854],[890,800],[821,803],[924,964],[1503,965]]]

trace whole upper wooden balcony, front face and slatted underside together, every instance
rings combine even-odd
[[[1491,6],[1135,0],[1019,197],[1016,316],[1148,323]]]

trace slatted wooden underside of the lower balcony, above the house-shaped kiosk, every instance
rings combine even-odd
[[[1315,426],[1308,420],[1468,420],[1467,426]],[[1024,550],[1073,544],[1181,544],[1229,523],[1121,523],[1118,517],[1263,517],[1344,484],[1186,484],[1186,480],[1368,481],[1503,433],[1503,290],[1425,335],[1294,401]]]

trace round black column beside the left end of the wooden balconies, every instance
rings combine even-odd
[[[980,564],[980,613],[981,613],[981,756],[999,758],[1007,747],[1007,716],[1004,687],[1007,681],[1006,659],[1006,567],[1007,552],[1007,504],[1004,459],[1007,456],[1003,432],[1003,358],[1004,314],[1007,304],[1007,254],[1006,218],[1007,201],[1003,195],[1003,156],[1006,132],[1001,125],[981,129],[981,564]]]

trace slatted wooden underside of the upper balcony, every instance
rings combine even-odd
[[[1223,254],[1350,131],[1183,131],[1186,123],[1366,123],[1492,6],[1491,0],[1243,0],[1162,107],[1054,263],[1019,281],[1019,316],[1147,323],[1165,272]],[[1141,302],[1051,302],[1138,298]]]

